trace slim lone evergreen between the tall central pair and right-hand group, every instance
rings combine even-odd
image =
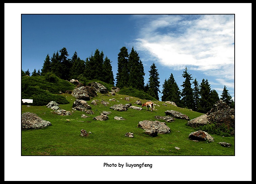
[[[159,82],[158,76],[159,76],[159,73],[157,72],[155,63],[153,63],[150,66],[150,71],[149,71],[148,93],[150,96],[154,97],[157,100],[159,100],[158,92],[160,92],[159,90],[160,82]]]

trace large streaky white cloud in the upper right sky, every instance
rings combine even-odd
[[[214,71],[219,78],[234,79],[234,15],[156,17],[141,26],[138,50],[175,70],[190,65],[208,74]]]

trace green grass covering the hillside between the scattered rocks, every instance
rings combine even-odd
[[[70,103],[61,104],[59,107],[67,111],[72,110],[72,104],[75,98],[70,94],[62,94]],[[143,120],[156,120],[155,116],[165,116],[166,110],[175,110],[189,116],[190,119],[196,118],[201,113],[189,111],[188,109],[178,108],[174,105],[162,105],[164,102],[154,101],[155,109],[153,112],[143,110],[137,111],[128,108],[128,111],[119,112],[110,109],[114,104],[132,103],[139,98],[130,98],[130,101],[124,100],[127,95],[116,94],[108,96],[98,93],[93,100],[99,100],[94,106],[90,101],[91,110],[94,112],[89,118],[81,118],[85,112],[73,111],[70,116],[60,116],[53,114],[50,108],[46,106],[22,105],[22,113],[30,112],[37,114],[43,120],[51,122],[52,126],[42,129],[23,130],[21,132],[21,155],[115,155],[115,156],[205,156],[205,155],[235,155],[234,136],[222,137],[212,135],[214,141],[207,143],[204,141],[194,142],[189,139],[189,133],[196,131],[187,126],[187,120],[175,119],[174,122],[166,123],[171,132],[168,134],[158,134],[156,137],[150,137],[144,133],[142,128],[137,128],[138,122]],[[116,101],[109,101],[115,98]],[[122,98],[122,99],[121,99]],[[109,102],[107,106],[100,103],[101,100]],[[117,101],[119,100],[119,102]],[[140,99],[141,100],[141,99]],[[142,103],[146,100],[141,100]],[[102,111],[111,111],[106,121],[97,121],[93,117],[98,116]],[[125,120],[114,120],[115,116],[122,116]],[[69,119],[67,121],[66,119]],[[82,122],[83,121],[83,122]],[[158,120],[165,122],[164,120]],[[88,137],[80,136],[80,130],[92,132]],[[125,136],[125,133],[133,132],[134,138]],[[227,142],[231,147],[222,147],[219,142]],[[175,147],[179,147],[177,150]]]

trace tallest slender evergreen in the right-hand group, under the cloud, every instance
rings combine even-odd
[[[182,105],[184,108],[192,109],[193,108],[193,103],[194,103],[194,98],[193,98],[193,90],[191,88],[191,83],[190,81],[193,80],[191,77],[192,74],[189,74],[187,67],[185,68],[185,71],[183,71],[182,76],[185,78],[185,81],[183,82],[183,87],[182,90]]]

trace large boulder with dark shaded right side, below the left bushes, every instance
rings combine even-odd
[[[92,89],[90,86],[82,86],[79,88],[75,88],[71,95],[75,97],[76,99],[80,100],[90,100],[90,97],[97,96],[97,93],[94,89]]]

